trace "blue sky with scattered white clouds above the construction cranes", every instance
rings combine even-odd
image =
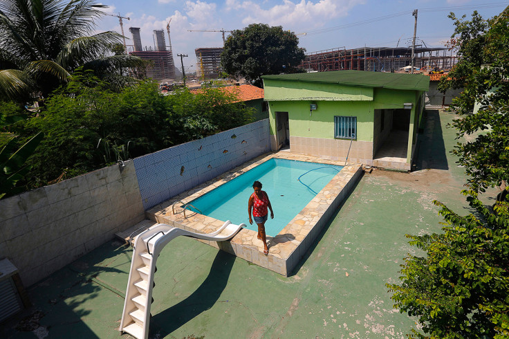
[[[443,47],[454,32],[456,17],[477,10],[483,18],[498,15],[509,1],[469,0],[107,0],[109,15],[129,17],[124,21],[127,44],[132,44],[129,27],[139,27],[142,46],[154,47],[153,30],[164,30],[167,22],[176,66],[183,58],[186,72],[196,71],[195,48],[222,47],[221,32],[189,30],[236,30],[249,24],[282,26],[299,37],[306,53],[335,48],[411,46],[414,35],[413,10],[418,10],[416,44]],[[104,16],[97,32],[120,33],[117,17]],[[304,34],[305,33],[305,34]],[[226,33],[228,37],[228,33]],[[167,42],[168,44],[168,42]]]

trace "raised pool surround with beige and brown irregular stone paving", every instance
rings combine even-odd
[[[313,156],[304,156],[290,152],[263,154],[257,158],[243,163],[221,176],[206,183],[194,187],[192,190],[183,192],[172,199],[154,206],[146,211],[149,219],[158,223],[167,223],[193,232],[210,233],[223,225],[219,221],[203,214],[186,211],[187,219],[184,218],[181,208],[176,208],[176,214],[172,212],[172,205],[176,201],[188,203],[214,188],[223,185],[233,178],[261,165],[270,158],[282,158],[287,160],[306,161],[328,165],[344,165],[339,161],[331,161]],[[299,264],[306,251],[311,247],[317,235],[326,225],[340,203],[348,195],[362,174],[362,165],[346,165],[336,174],[331,181],[288,223],[275,237],[268,237],[269,255],[263,255],[263,244],[258,240],[257,232],[243,228],[230,241],[202,241],[206,244],[225,250],[248,262],[257,264],[281,275],[288,276]],[[246,203],[247,213],[247,203]]]

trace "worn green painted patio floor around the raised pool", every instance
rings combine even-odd
[[[414,251],[405,233],[440,230],[433,199],[465,208],[463,170],[446,152],[453,117],[428,111],[416,172],[364,174],[290,277],[172,241],[158,259],[151,338],[405,338],[415,322],[392,308],[385,283]],[[119,338],[130,261],[131,249],[111,241],[30,287],[24,315],[39,329],[15,329],[30,329],[20,315],[0,337]]]

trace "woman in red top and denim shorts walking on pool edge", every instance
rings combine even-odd
[[[254,193],[249,197],[248,203],[249,223],[252,225],[252,209],[254,222],[258,225],[258,239],[263,241],[263,254],[268,255],[267,239],[265,234],[265,222],[267,221],[268,215],[267,208],[270,210],[270,219],[274,219],[274,212],[272,211],[272,205],[270,205],[267,193],[261,190],[261,183],[259,181],[254,181],[252,188]]]

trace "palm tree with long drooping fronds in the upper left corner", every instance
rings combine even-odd
[[[122,37],[109,31],[91,35],[107,6],[93,0],[0,1],[0,97],[46,97],[68,82],[75,68],[92,69],[113,89],[133,82],[122,68],[139,66],[131,55],[111,55]]]

